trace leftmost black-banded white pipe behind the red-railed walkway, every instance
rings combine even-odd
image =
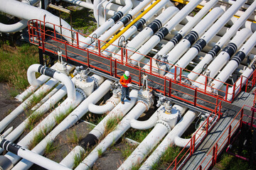
[[[102,33],[105,32],[105,30],[112,27],[114,25],[114,23],[119,21],[119,19],[122,18],[122,16],[124,16],[126,13],[128,13],[128,11],[132,8],[132,1],[127,0],[127,1],[125,1],[125,3],[126,3],[126,5],[120,11],[115,13],[114,16],[112,16],[110,19],[108,19],[104,24],[102,24],[102,26],[97,28],[97,30],[93,31],[93,33],[91,33],[89,35],[89,37],[87,37],[83,41],[83,42],[85,42],[85,45],[83,45],[84,47],[88,47],[92,43],[93,36],[96,35],[96,38],[99,38],[100,35],[102,35]]]

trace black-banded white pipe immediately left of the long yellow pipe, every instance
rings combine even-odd
[[[144,0],[138,6],[136,6],[132,11],[130,11],[126,16],[124,16],[120,21],[118,21],[114,26],[112,26],[109,30],[107,30],[104,34],[100,35],[99,40],[106,41],[108,40],[114,33],[117,33],[125,24],[129,23],[137,14],[142,11],[147,5],[149,5],[153,0]],[[90,50],[95,48],[95,42],[90,46]]]

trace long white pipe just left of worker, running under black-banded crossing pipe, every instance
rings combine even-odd
[[[90,103],[97,103],[107,91],[110,91],[112,86],[112,81],[107,79],[104,81],[98,89],[92,92],[90,96],[88,96],[80,105],[75,108],[75,110],[68,115],[56,128],[54,128],[36,147],[32,149],[33,152],[38,154],[43,154],[48,141],[53,141],[55,137],[62,132],[63,130],[67,130],[71,126],[75,125],[75,123],[82,118],[85,113],[88,111],[88,105]],[[26,159],[22,159],[18,164],[16,164],[17,169],[29,169],[33,165],[32,162],[28,162]]]

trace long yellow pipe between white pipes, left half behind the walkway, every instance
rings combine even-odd
[[[142,18],[142,16],[144,16],[149,10],[151,10],[151,8],[156,6],[156,4],[159,3],[159,1],[161,1],[161,0],[155,1],[154,4],[151,4],[151,6],[149,6],[149,8],[146,8],[146,10],[143,13],[141,13],[139,16],[137,16],[137,18],[135,18],[134,21],[129,23],[129,25],[126,26],[123,30],[121,30],[117,35],[114,35],[114,38],[112,38],[109,42],[107,42],[107,44],[104,45],[101,49],[105,50],[108,46],[110,46],[110,44],[112,44],[112,42],[117,40],[117,38],[119,38],[125,31],[127,31],[132,25],[134,25],[134,23],[136,23],[140,18]]]

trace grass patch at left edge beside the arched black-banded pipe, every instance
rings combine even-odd
[[[11,47],[11,50],[4,49],[0,48],[0,83],[14,86],[16,91],[12,91],[11,96],[16,96],[18,91],[29,85],[26,75],[28,67],[39,63],[38,47],[25,43],[21,47]]]

